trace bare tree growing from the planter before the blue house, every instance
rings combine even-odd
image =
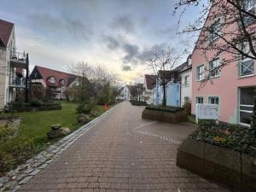
[[[154,71],[157,76],[156,81],[163,89],[162,106],[166,107],[166,85],[172,78],[172,70],[177,61],[181,58],[180,55],[172,55],[172,49],[161,49],[159,51],[151,51],[148,59],[148,67]]]

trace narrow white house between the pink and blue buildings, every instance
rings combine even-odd
[[[186,102],[191,102],[192,96],[192,65],[190,55],[188,60],[185,62],[185,67],[181,69],[181,106]]]

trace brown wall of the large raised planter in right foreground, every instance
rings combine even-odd
[[[235,191],[256,191],[256,157],[230,148],[186,139],[177,148],[177,166]]]

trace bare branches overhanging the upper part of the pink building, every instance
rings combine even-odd
[[[177,3],[174,13],[182,9],[180,18],[189,7],[201,7],[195,22],[180,33],[201,32],[195,49],[202,49],[207,61],[212,60],[212,54],[214,57],[226,53],[232,55],[224,57],[218,67],[209,69],[209,74],[243,58],[256,60],[255,3],[256,0],[179,0]]]

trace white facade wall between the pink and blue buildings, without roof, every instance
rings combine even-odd
[[[184,84],[184,78],[186,76],[189,76],[188,82],[189,84],[186,86]],[[181,73],[181,77],[182,77],[182,84],[181,84],[181,106],[183,106],[184,104],[184,97],[189,97],[189,101],[191,101],[191,95],[192,95],[192,68]]]

